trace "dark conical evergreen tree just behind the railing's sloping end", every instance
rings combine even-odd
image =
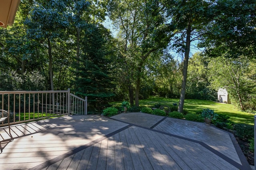
[[[114,96],[111,92],[111,51],[107,43],[109,33],[101,25],[92,25],[86,31],[76,67],[75,92],[79,96],[88,96],[88,104],[94,109],[102,109]]]

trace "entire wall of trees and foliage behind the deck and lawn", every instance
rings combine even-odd
[[[14,24],[0,28],[0,90],[70,88],[101,113],[111,100],[138,108],[150,95],[180,97],[184,112],[185,98],[215,101],[226,88],[254,112],[255,9],[243,0],[22,0]],[[192,56],[197,43],[205,51]]]

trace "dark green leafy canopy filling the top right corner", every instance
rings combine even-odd
[[[250,0],[218,0],[212,7],[214,20],[206,27],[206,53],[218,57],[256,57],[256,3]]]

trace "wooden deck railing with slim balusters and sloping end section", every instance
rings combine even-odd
[[[8,111],[11,125],[60,115],[87,115],[87,97],[82,99],[70,94],[70,89],[0,91],[0,109]],[[7,124],[2,122],[0,126]]]

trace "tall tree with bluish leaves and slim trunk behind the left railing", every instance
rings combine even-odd
[[[25,24],[28,36],[48,48],[50,89],[54,90],[52,43],[58,38],[65,38],[62,34],[69,25],[65,1],[34,2]]]

